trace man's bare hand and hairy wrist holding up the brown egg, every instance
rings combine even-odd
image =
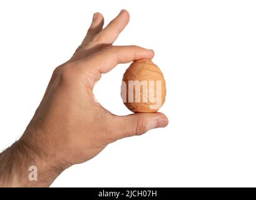
[[[90,160],[108,144],[167,126],[162,113],[115,116],[94,100],[101,74],[119,63],[154,56],[142,47],[112,45],[128,21],[122,10],[103,29],[103,16],[94,14],[76,53],[54,70],[23,136],[0,154],[0,186],[48,187],[65,169]],[[29,181],[29,166],[38,168],[38,181]]]

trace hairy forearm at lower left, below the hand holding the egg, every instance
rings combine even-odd
[[[21,138],[0,154],[0,187],[48,187],[61,173]]]

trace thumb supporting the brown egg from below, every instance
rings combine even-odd
[[[168,119],[163,113],[135,113],[115,117],[116,138],[139,136],[150,129],[167,126]]]

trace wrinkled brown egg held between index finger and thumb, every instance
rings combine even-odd
[[[133,113],[155,113],[165,103],[165,79],[150,59],[133,62],[123,75],[121,97]]]

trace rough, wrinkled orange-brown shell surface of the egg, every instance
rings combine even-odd
[[[135,86],[133,88],[129,88],[129,81],[146,81],[148,87],[146,88],[147,93],[143,93],[143,87],[140,86],[140,102],[135,101]],[[153,95],[149,91],[150,81],[153,81]],[[159,88],[156,84],[156,81],[161,82],[161,88]],[[126,70],[123,75],[123,83],[125,83],[125,90],[121,88],[121,96],[123,98],[122,93],[126,93],[126,101],[124,101],[125,106],[130,109],[133,113],[155,113],[160,109],[160,107],[165,103],[165,95],[166,95],[166,86],[165,79],[163,78],[163,73],[161,70],[154,64],[150,59],[140,59],[138,61],[133,62],[130,67]],[[123,87],[123,85],[122,85]],[[158,92],[157,92],[158,91]],[[133,101],[128,101],[129,93],[133,93]],[[147,96],[147,102],[143,102],[143,94]],[[153,98],[150,98],[150,94],[155,100],[152,101]],[[160,96],[160,100],[158,101],[158,106],[156,105],[156,98]],[[137,96],[137,99],[139,97]]]

